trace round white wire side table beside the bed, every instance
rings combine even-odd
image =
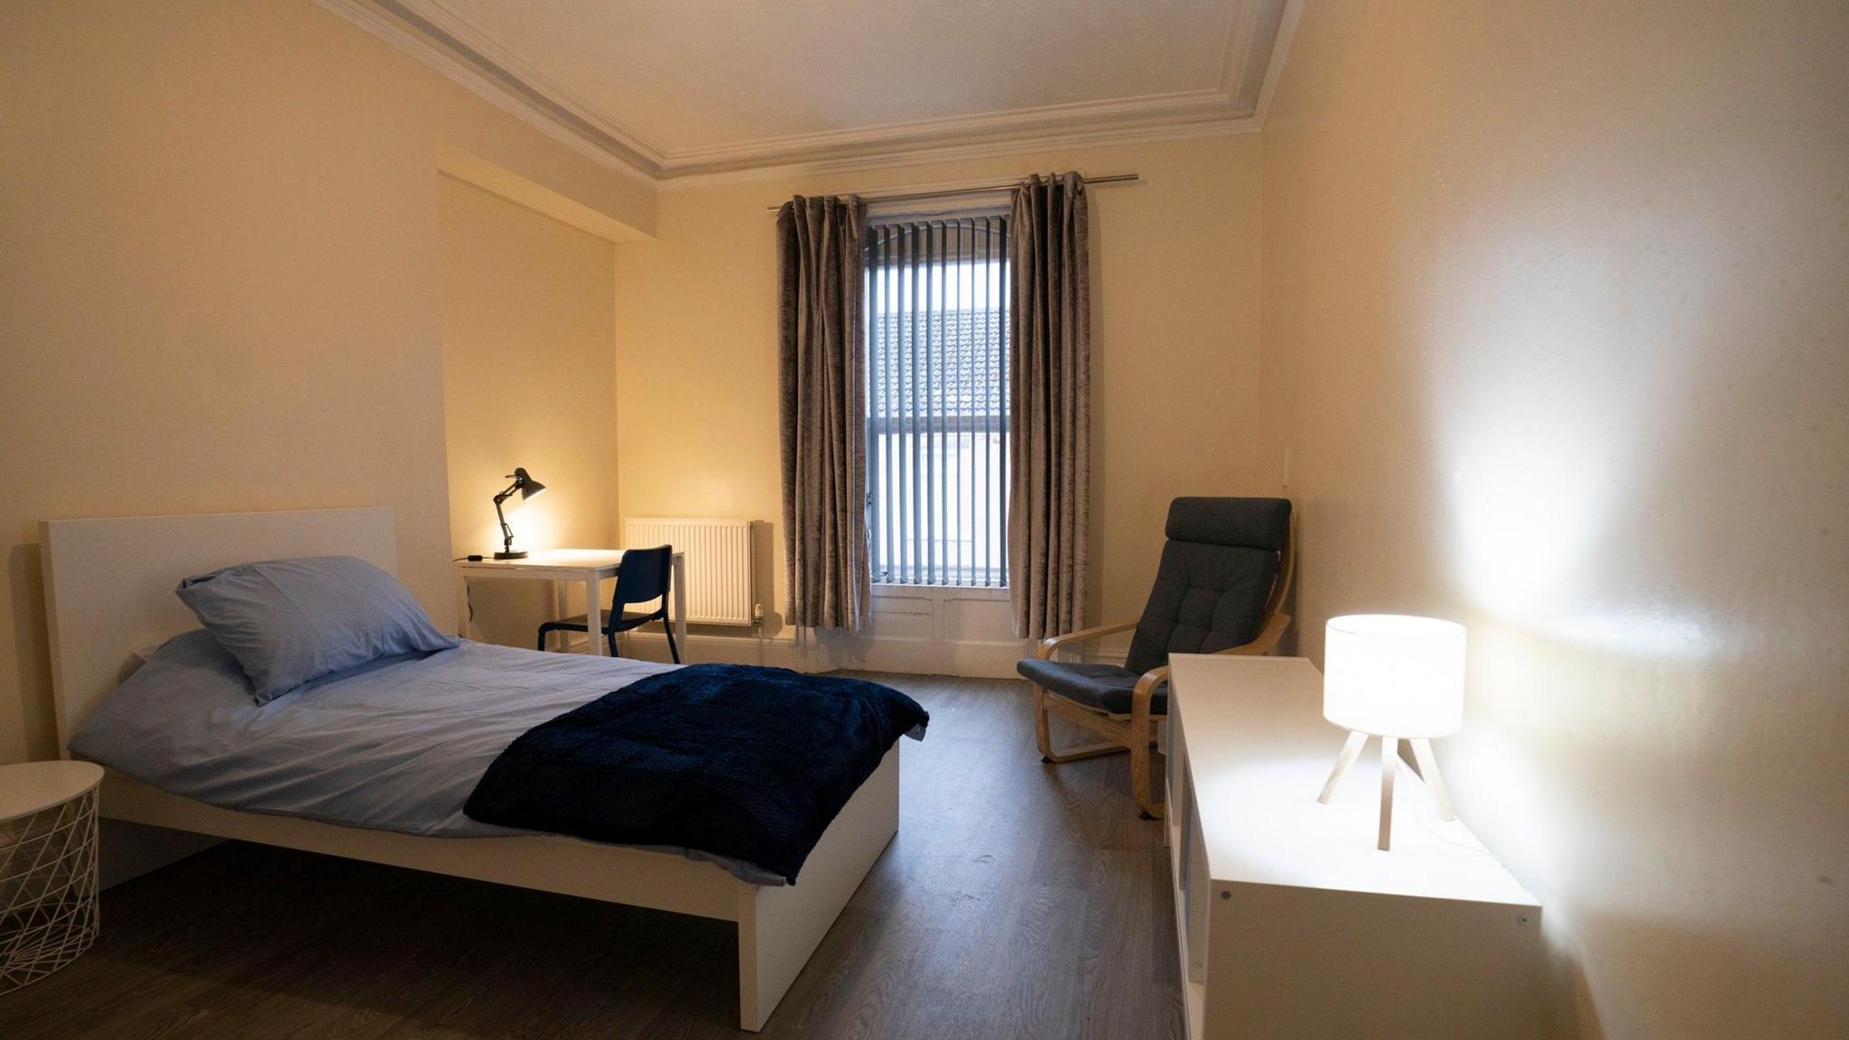
[[[0,994],[96,942],[96,788],[102,766],[0,766]]]

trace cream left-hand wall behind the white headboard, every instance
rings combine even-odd
[[[15,0],[0,96],[0,762],[57,751],[43,518],[394,505],[451,622],[438,150],[651,192],[307,0]]]

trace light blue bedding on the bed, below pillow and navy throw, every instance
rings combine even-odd
[[[307,683],[259,705],[205,631],[176,637],[104,698],[76,755],[244,812],[438,838],[523,835],[462,812],[525,731],[675,664],[462,642]],[[754,885],[782,879],[693,849]]]

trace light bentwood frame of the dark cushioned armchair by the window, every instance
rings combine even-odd
[[[1259,627],[1259,635],[1252,642],[1241,646],[1230,646],[1217,653],[1237,653],[1250,657],[1263,657],[1272,650],[1278,650],[1278,640],[1291,627],[1291,614],[1283,613],[1283,601],[1291,594],[1291,579],[1296,574],[1296,514],[1291,516],[1291,529],[1285,535],[1283,551],[1278,553],[1278,577],[1272,579],[1270,598],[1265,600],[1265,624]],[[1084,646],[1095,642],[1108,635],[1117,635],[1137,627],[1139,622],[1115,622],[1108,625],[1095,625],[1089,629],[1080,629],[1074,633],[1056,635],[1043,638],[1039,650],[1034,651],[1041,661],[1050,661],[1056,653],[1067,648]],[[1150,668],[1139,679],[1135,688],[1130,692],[1130,714],[1113,714],[1108,711],[1093,709],[1059,694],[1047,690],[1045,687],[1034,687],[1034,744],[1039,746],[1043,762],[1076,762],[1078,759],[1096,759],[1098,755],[1115,755],[1119,751],[1130,751],[1130,794],[1137,799],[1137,809],[1143,811],[1145,820],[1161,820],[1163,803],[1156,801],[1150,792],[1150,748],[1156,744],[1154,724],[1159,718],[1150,718],[1150,700],[1156,696],[1156,687],[1169,681],[1169,666]],[[1050,716],[1058,714],[1065,722],[1087,729],[1104,740],[1096,744],[1085,744],[1082,748],[1071,748],[1065,751],[1054,751],[1052,748],[1052,724]]]

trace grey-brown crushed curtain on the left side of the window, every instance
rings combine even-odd
[[[777,213],[777,389],[784,461],[786,620],[860,629],[867,564],[865,324],[858,198]]]

